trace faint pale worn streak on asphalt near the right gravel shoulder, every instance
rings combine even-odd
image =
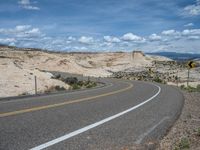
[[[151,127],[147,132],[144,134],[140,135],[138,140],[135,142],[135,144],[140,144],[144,138],[149,135],[153,130],[155,130],[159,125],[161,125],[164,121],[169,120],[170,118],[168,116],[164,117],[162,120],[160,120],[156,125]]]

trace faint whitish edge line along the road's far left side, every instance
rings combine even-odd
[[[112,83],[109,83],[107,86],[103,86],[103,87],[97,87],[97,88],[92,88],[92,89],[85,89],[85,90],[80,90],[80,91],[70,91],[70,92],[67,92],[67,93],[59,93],[59,94],[56,94],[56,95],[51,95],[51,97],[56,97],[56,96],[61,96],[61,95],[71,95],[71,94],[79,94],[79,93],[85,93],[85,92],[90,92],[90,91],[96,91],[98,89],[106,89],[106,88],[109,88],[109,87],[112,87],[113,84]],[[42,95],[42,97],[48,97],[49,95]],[[25,99],[19,99],[19,100],[9,100],[9,101],[2,101],[0,102],[0,105],[1,104],[7,104],[7,103],[15,103],[15,102],[22,102],[22,101],[31,101],[31,100],[34,100],[34,99],[28,99],[28,98],[25,98]]]

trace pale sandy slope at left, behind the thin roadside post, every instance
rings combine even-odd
[[[38,92],[55,85],[69,88],[64,82],[51,79],[52,74],[34,68],[16,66],[12,59],[0,59],[0,68],[0,97],[34,94],[35,76],[37,76]]]

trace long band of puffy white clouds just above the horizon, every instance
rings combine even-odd
[[[177,37],[178,40],[177,40]],[[147,42],[146,42],[147,41]],[[142,37],[127,33],[123,36],[46,36],[39,28],[31,25],[18,25],[13,28],[0,28],[0,43],[19,47],[35,47],[66,51],[131,51],[148,50],[188,50],[198,51],[200,29],[164,30]],[[194,46],[193,46],[194,45]],[[174,46],[174,47],[173,47]],[[182,48],[183,47],[183,48]]]

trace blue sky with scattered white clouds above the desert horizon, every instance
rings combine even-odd
[[[200,53],[200,0],[1,0],[0,43]]]

